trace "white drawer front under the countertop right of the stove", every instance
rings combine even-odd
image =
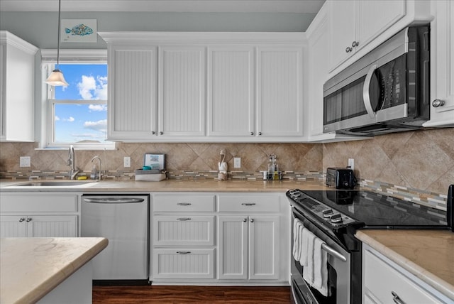
[[[443,303],[387,261],[371,251],[363,252],[365,269],[363,293],[368,297],[375,298],[380,303],[392,303],[394,292],[403,303]]]

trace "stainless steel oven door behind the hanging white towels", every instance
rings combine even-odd
[[[323,296],[315,288],[309,286],[303,278],[303,266],[291,256],[292,265],[292,295],[294,303],[311,303],[311,304],[345,304],[351,303],[350,299],[350,253],[338,245],[333,239],[323,232],[314,221],[305,216],[301,210],[292,206],[292,223],[297,218],[304,224],[306,229],[319,237],[326,243],[326,252],[328,253],[328,296]],[[292,252],[293,252],[293,229],[292,229]]]

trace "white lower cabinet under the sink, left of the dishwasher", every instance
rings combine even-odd
[[[77,237],[77,195],[1,195],[0,237]]]

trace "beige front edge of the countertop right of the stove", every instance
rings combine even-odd
[[[384,256],[387,256],[388,259],[394,261],[394,263],[398,264],[399,266],[402,266],[402,268],[406,269],[406,271],[409,271],[416,277],[420,278],[422,281],[428,283],[429,286],[432,286],[437,291],[440,291],[441,293],[443,293],[443,295],[448,296],[448,298],[454,299],[454,286],[431,273],[431,271],[422,268],[418,264],[410,261],[405,256],[398,254],[396,251],[390,249],[380,241],[377,241],[376,239],[370,237],[362,231],[357,231],[355,237],[357,237],[365,244],[371,246],[373,249],[377,250]]]

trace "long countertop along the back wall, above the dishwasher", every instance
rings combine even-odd
[[[33,180],[34,182],[48,180]],[[62,180],[67,182],[68,180]],[[69,187],[23,187],[28,180],[1,180],[1,192],[29,191],[76,191],[76,192],[286,192],[289,189],[325,190],[323,181],[319,180],[162,180],[145,182],[135,180],[101,180],[99,182]],[[333,189],[333,188],[331,188]],[[335,189],[333,189],[335,190]]]

